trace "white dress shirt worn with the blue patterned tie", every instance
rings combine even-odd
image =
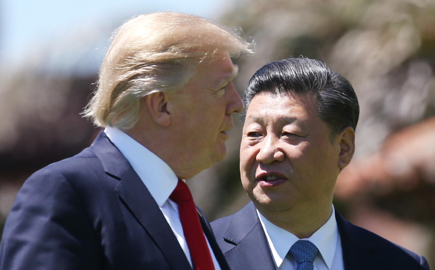
[[[268,239],[269,249],[271,250],[276,269],[296,270],[298,263],[291,256],[286,257],[286,255],[291,246],[300,239],[293,233],[268,221],[258,210],[257,213]],[[345,269],[334,206],[332,206],[331,217],[329,217],[328,221],[310,237],[303,240],[308,240],[315,244],[319,250],[314,260],[314,270]]]

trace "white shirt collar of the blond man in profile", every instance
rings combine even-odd
[[[161,207],[177,186],[178,178],[171,167],[121,130],[106,127],[104,133],[128,160]]]

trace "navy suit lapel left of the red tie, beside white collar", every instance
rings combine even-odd
[[[115,188],[131,213],[160,248],[173,269],[191,269],[189,262],[154,198],[130,163],[100,132],[91,146],[107,174],[120,180]]]

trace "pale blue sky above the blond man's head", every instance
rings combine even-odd
[[[228,4],[230,0],[2,0],[0,59],[3,65],[16,64],[29,52],[59,43],[80,27],[108,25],[107,33],[102,33],[108,38],[123,20],[153,11],[178,11],[215,20]]]

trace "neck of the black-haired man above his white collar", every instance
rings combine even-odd
[[[260,210],[260,213],[274,225],[305,239],[315,233],[328,221],[332,213],[332,199],[326,203],[307,203],[288,210]]]

